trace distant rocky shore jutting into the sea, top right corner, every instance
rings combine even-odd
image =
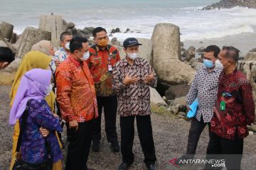
[[[234,8],[235,6],[256,8],[256,1],[255,0],[221,0],[217,3],[213,3],[210,6],[203,7],[203,10]]]

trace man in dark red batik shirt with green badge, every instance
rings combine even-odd
[[[252,86],[242,72],[236,69],[239,50],[223,47],[215,67],[223,69],[220,74],[217,102],[210,121],[210,141],[207,159],[222,154],[227,169],[240,169],[243,138],[247,137],[247,125],[255,120],[255,103]],[[207,164],[206,169],[212,165]]]

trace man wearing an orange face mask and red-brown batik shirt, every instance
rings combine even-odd
[[[92,35],[96,44],[89,49],[90,58],[87,63],[95,82],[99,111],[92,137],[92,151],[100,151],[100,124],[102,108],[104,108],[107,141],[111,143],[113,152],[119,152],[116,130],[117,96],[112,89],[112,67],[120,60],[119,52],[116,47],[107,44],[109,38],[105,28],[97,27],[93,29]]]

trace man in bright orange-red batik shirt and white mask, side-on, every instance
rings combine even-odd
[[[86,38],[70,41],[70,56],[56,69],[57,101],[68,123],[69,138],[65,169],[87,169],[92,130],[97,118],[97,101],[92,75],[85,62],[89,57]]]

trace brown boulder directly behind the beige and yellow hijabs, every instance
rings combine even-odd
[[[16,57],[22,58],[27,52],[31,50],[32,45],[41,40],[50,40],[51,33],[45,30],[28,27],[18,38],[14,47],[18,47]]]

